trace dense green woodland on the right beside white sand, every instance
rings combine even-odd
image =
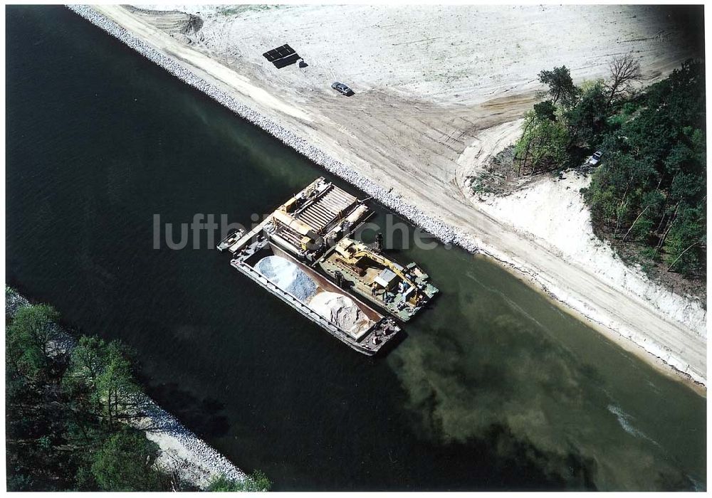
[[[575,86],[566,66],[542,71],[546,100],[528,111],[515,144],[518,175],[580,167],[603,152],[582,191],[601,238],[643,270],[706,275],[705,68],[687,60],[643,91],[632,54],[608,80]]]

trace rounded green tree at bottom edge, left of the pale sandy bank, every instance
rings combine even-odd
[[[123,428],[96,452],[91,474],[104,491],[159,491],[159,447],[139,430]]]

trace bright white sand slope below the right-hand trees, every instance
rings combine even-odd
[[[493,218],[507,223],[525,237],[536,238],[562,258],[590,267],[623,292],[649,302],[666,314],[706,337],[706,309],[694,297],[683,297],[667,290],[649,278],[639,267],[625,264],[610,244],[593,232],[590,211],[580,190],[589,186],[591,176],[566,171],[562,179],[540,176],[523,188],[506,196],[474,194],[468,189],[466,176],[476,174],[491,157],[513,144],[520,135],[520,122],[511,122],[483,132],[478,144],[468,147],[461,156],[467,167],[461,180],[464,195]],[[634,342],[644,341],[637,337]]]

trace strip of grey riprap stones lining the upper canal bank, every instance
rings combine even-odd
[[[323,166],[331,173],[340,176],[350,184],[357,186],[357,188],[372,196],[377,201],[384,204],[384,206],[393,209],[400,215],[404,216],[404,218],[407,218],[409,221],[414,223],[414,225],[419,226],[434,235],[443,243],[453,243],[460,245],[471,253],[477,252],[478,248],[473,238],[464,233],[464,231],[453,228],[437,218],[427,216],[415,206],[402,201],[399,196],[391,194],[389,191],[382,188],[382,186],[379,186],[370,179],[365,178],[365,176],[358,174],[349,166],[346,166],[340,161],[336,161],[317,147],[309,144],[305,139],[298,137],[271,120],[268,120],[263,115],[252,110],[250,107],[237,102],[237,100],[233,97],[227,95],[226,92],[220,90],[214,85],[211,85],[210,83],[207,83],[202,78],[199,78],[199,76],[192,73],[191,70],[185,68],[176,60],[159,53],[159,51],[155,48],[152,48],[147,43],[140,40],[140,38],[136,38],[124,28],[118,26],[115,22],[101,16],[89,6],[68,5],[67,7],[79,16],[82,16],[99,28],[102,28],[110,35],[115,36],[141,55],[144,55],[146,58],[152,60],[154,63],[158,64],[176,78],[182,80],[184,83],[187,83],[201,92],[204,92],[206,95],[221,103],[236,115],[239,115],[245,120],[256,124],[256,126],[264,129],[269,134],[272,134],[278,140],[289,147],[292,147],[305,157],[308,157],[308,159],[314,161],[316,164]]]

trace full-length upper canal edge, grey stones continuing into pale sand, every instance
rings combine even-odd
[[[681,378],[693,381],[693,383],[697,383],[706,388],[706,371],[701,371],[701,369],[691,366],[688,362],[684,361],[684,359],[675,356],[664,346],[648,340],[648,338],[644,337],[644,335],[639,334],[634,330],[622,327],[622,325],[617,322],[612,322],[610,319],[607,319],[604,314],[601,314],[601,312],[598,312],[596,309],[592,309],[592,307],[585,302],[569,295],[564,289],[557,285],[557,282],[548,280],[545,275],[528,270],[525,265],[508,260],[508,258],[498,254],[498,251],[494,248],[479,247],[471,235],[453,228],[443,221],[428,216],[418,208],[405,203],[401,198],[399,198],[399,196],[383,189],[381,186],[375,184],[373,181],[365,178],[361,174],[357,174],[345,164],[329,157],[328,154],[325,154],[317,147],[309,144],[305,139],[298,137],[293,132],[290,132],[275,122],[268,120],[266,117],[254,111],[250,107],[239,103],[234,97],[231,97],[215,85],[212,85],[203,78],[200,78],[177,60],[164,55],[145,41],[142,41],[140,38],[132,35],[129,31],[114,21],[98,14],[98,12],[94,11],[90,6],[72,4],[67,5],[67,7],[68,9],[74,11],[75,14],[85,18],[87,21],[90,21],[103,31],[106,31],[115,38],[118,38],[122,41],[122,43],[125,43],[125,45],[134,49],[149,60],[152,60],[152,62],[179,78],[179,80],[182,80],[184,83],[187,83],[188,85],[197,88],[197,90],[204,92],[204,94],[208,95],[213,100],[216,100],[216,102],[219,102],[221,105],[224,105],[224,107],[227,107],[239,117],[255,124],[264,131],[273,135],[273,137],[276,137],[276,139],[283,142],[283,144],[295,149],[295,151],[299,152],[311,161],[323,166],[331,173],[339,176],[345,181],[348,181],[350,184],[357,186],[357,188],[362,191],[365,191],[384,206],[391,208],[401,216],[404,216],[404,218],[407,218],[409,221],[414,223],[414,225],[428,231],[443,243],[459,245],[465,250],[468,250],[470,253],[488,255],[498,261],[498,263],[501,263],[501,265],[516,270],[520,273],[520,275],[523,275],[530,284],[533,284],[538,289],[543,290],[543,292],[545,292],[551,299],[565,304],[566,307],[577,312],[580,317],[584,317],[587,321],[600,326],[596,327],[597,330],[600,330],[601,327],[609,329],[618,334],[622,339],[632,341],[634,344],[642,348],[646,351],[646,354],[643,354],[642,358],[648,361],[649,364],[655,366],[656,368],[660,368],[660,362],[663,362],[666,366],[674,369],[676,373],[679,373]],[[608,337],[610,337],[610,335],[608,335]],[[666,367],[663,367],[663,369],[665,368]]]

